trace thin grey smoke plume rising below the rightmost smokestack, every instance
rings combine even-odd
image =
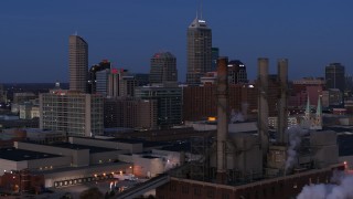
[[[286,170],[292,168],[296,164],[297,149],[300,146],[301,137],[308,134],[308,130],[299,126],[292,126],[286,130],[289,139],[289,147],[287,150]]]

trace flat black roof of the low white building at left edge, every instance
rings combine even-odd
[[[32,150],[23,150],[17,148],[1,148],[0,149],[0,158],[8,159],[12,161],[23,161],[23,160],[32,160],[32,159],[45,159],[45,158],[54,158],[62,157],[60,155],[38,153]]]

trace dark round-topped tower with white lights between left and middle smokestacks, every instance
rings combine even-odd
[[[248,82],[246,66],[239,60],[232,60],[228,63],[228,81],[231,84]]]

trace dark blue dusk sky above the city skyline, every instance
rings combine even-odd
[[[200,0],[1,0],[0,83],[67,82],[68,35],[89,44],[89,65],[149,72],[150,56],[170,51],[185,80],[186,29]],[[256,76],[256,60],[289,59],[289,77],[323,76],[353,65],[352,0],[204,0],[213,45]]]

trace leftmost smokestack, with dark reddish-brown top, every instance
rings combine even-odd
[[[226,139],[228,133],[228,59],[217,61],[217,182],[226,184]]]

